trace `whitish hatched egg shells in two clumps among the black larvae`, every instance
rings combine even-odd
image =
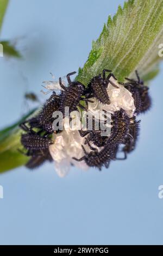
[[[96,115],[103,109],[107,112],[114,113],[123,108],[132,117],[135,111],[133,96],[114,77],[110,77],[110,80],[118,86],[118,88],[115,88],[112,87],[111,83],[108,84],[107,92],[111,102],[110,105],[103,105],[96,98],[92,98],[93,103],[89,102],[88,110],[93,115]],[[54,160],[55,170],[59,176],[65,176],[68,170],[70,170],[71,165],[82,169],[88,168],[85,161],[77,162],[72,159],[72,157],[79,159],[84,156],[82,145],[84,145],[85,138],[80,136],[78,130],[72,130],[70,128],[53,136],[54,144],[50,145],[49,152]],[[87,152],[90,151],[87,145],[84,145],[84,148]]]

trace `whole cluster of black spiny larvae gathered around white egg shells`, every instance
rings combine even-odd
[[[40,112],[35,117],[20,124],[24,131],[21,135],[21,143],[26,151],[19,150],[22,154],[30,157],[26,164],[30,169],[39,167],[45,161],[53,161],[49,153],[49,147],[55,143],[54,134],[57,135],[62,132],[59,126],[57,129],[53,127],[55,119],[53,113],[55,111],[62,113],[62,121],[64,121],[65,107],[69,107],[70,113],[79,111],[79,109],[87,112],[89,111],[89,103],[93,103],[93,99],[96,99],[100,104],[110,105],[110,97],[107,92],[108,85],[118,89],[117,83],[115,84],[111,80],[111,77],[116,80],[111,70],[103,70],[102,74],[93,77],[86,86],[78,81],[71,81],[71,75],[75,73],[67,74],[67,86],[59,78],[60,94],[53,91]],[[133,96],[134,115],[131,117],[123,108],[111,113],[111,132],[109,136],[102,136],[102,131],[93,129],[93,125],[91,130],[80,130],[79,134],[85,138],[84,144],[90,150],[87,152],[82,144],[83,156],[79,159],[72,157],[73,160],[85,161],[87,166],[97,167],[101,170],[103,166],[108,168],[111,160],[126,159],[127,154],[135,149],[140,123],[140,120],[136,120],[136,116],[146,112],[151,107],[148,87],[140,80],[137,71],[136,77],[136,80],[126,78],[126,83],[119,83],[129,90]],[[85,102],[85,104],[81,102]],[[95,119],[93,116],[93,124]],[[123,157],[118,157],[120,148]]]

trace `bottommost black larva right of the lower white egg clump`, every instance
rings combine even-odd
[[[97,167],[99,170],[102,169],[102,166],[108,168],[110,161],[115,158],[117,147],[110,147],[109,145],[105,145],[101,151],[98,151],[96,148],[93,148],[89,142],[87,142],[87,144],[92,151],[87,153],[82,145],[85,155],[80,159],[77,159],[76,157],[73,157],[73,159],[78,162],[85,160],[88,166]]]

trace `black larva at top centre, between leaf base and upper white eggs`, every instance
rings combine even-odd
[[[108,84],[112,84],[112,86],[119,88],[116,86],[116,84],[112,81],[110,81],[110,77],[115,76],[110,73],[107,77],[105,76],[105,72],[111,72],[111,70],[104,69],[102,71],[102,74],[99,74],[98,76],[95,76],[91,79],[89,84],[87,85],[87,88],[85,89],[85,95],[87,97],[96,97],[96,99],[106,105],[110,104],[110,99],[108,92],[106,91],[106,88],[108,87]],[[115,78],[116,80],[116,78]]]

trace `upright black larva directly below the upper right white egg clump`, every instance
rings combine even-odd
[[[120,109],[120,111],[116,111],[112,116],[112,127],[111,133],[108,139],[106,139],[105,143],[112,145],[119,145],[121,143],[125,143],[126,138],[129,135],[130,125],[135,120],[135,117],[129,117],[129,115],[124,111],[124,109]]]

